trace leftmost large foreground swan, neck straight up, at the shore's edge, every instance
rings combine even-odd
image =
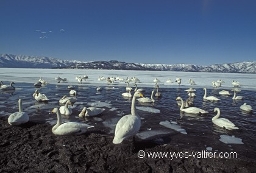
[[[21,125],[29,121],[29,115],[23,111],[22,100],[19,99],[19,111],[12,113],[8,118],[8,123],[10,125]]]

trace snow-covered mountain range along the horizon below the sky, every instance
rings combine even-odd
[[[256,62],[225,63],[221,65],[186,65],[186,64],[144,64],[126,63],[115,60],[80,62],[60,60],[50,57],[0,54],[0,68],[70,68],[70,69],[127,69],[157,71],[194,71],[194,72],[241,72],[256,73]]]

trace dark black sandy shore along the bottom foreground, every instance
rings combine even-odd
[[[113,144],[113,136],[88,132],[57,136],[49,124],[10,126],[0,118],[0,172],[255,172],[252,160],[139,158],[144,152],[192,152],[146,141]]]

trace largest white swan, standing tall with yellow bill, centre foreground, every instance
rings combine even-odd
[[[137,97],[143,97],[140,91],[136,91],[132,98],[131,113],[123,116],[116,124],[114,144],[122,143],[124,139],[132,137],[140,130],[141,120],[138,115],[135,102]]]

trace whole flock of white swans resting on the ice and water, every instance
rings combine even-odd
[[[82,82],[82,80],[86,80],[88,78],[88,76],[84,76],[84,77],[76,77],[76,80],[80,83]],[[66,79],[62,79],[60,77],[56,77],[55,80],[57,80],[57,82],[60,81],[65,81]],[[121,119],[119,119],[118,123],[116,124],[115,127],[115,137],[113,139],[113,143],[114,144],[119,144],[122,143],[122,141],[124,139],[130,138],[132,136],[135,136],[138,131],[140,130],[141,127],[141,118],[140,115],[138,115],[137,110],[135,108],[135,104],[136,102],[143,102],[143,103],[151,103],[151,102],[155,102],[154,100],[154,96],[156,97],[161,97],[162,94],[158,91],[159,86],[158,83],[160,82],[160,80],[158,80],[157,78],[153,80],[153,82],[155,82],[155,86],[152,90],[151,93],[151,98],[149,97],[144,97],[143,96],[143,89],[137,89],[137,82],[140,82],[139,79],[137,79],[136,77],[132,77],[131,79],[111,79],[110,77],[108,78],[104,78],[104,77],[99,77],[98,80],[106,80],[107,83],[112,83],[113,80],[119,80],[119,81],[126,81],[127,85],[126,85],[126,93],[122,93],[121,95],[123,97],[132,97],[132,104],[131,104],[131,110],[130,110],[130,114],[129,115],[125,115],[123,116]],[[129,86],[129,83],[133,82],[134,85],[136,86],[134,93],[132,95],[132,91],[133,88]],[[172,82],[171,79],[168,79],[166,82]],[[177,78],[176,82],[178,85],[181,84],[182,79]],[[194,80],[189,80],[189,82],[191,83],[191,85],[196,85],[196,83],[194,82]],[[38,82],[36,82],[34,85],[35,86],[41,86],[41,84],[46,84],[48,82],[46,82],[45,80],[40,79],[38,80]],[[214,88],[218,88],[221,86],[221,84],[224,83],[224,81],[222,80],[218,80],[217,82],[212,82],[213,87]],[[10,85],[4,85],[2,82],[0,84],[0,90],[15,90],[15,87],[13,85],[15,85],[15,83],[11,82]],[[232,85],[234,86],[234,88],[232,89],[233,91],[233,100],[241,100],[244,99],[243,96],[236,96],[236,93],[240,92],[240,88],[237,88],[238,86],[241,86],[241,83],[233,81]],[[63,96],[60,100],[59,103],[60,104],[64,104],[62,106],[60,106],[59,108],[54,108],[52,110],[52,113],[56,113],[57,115],[57,124],[54,125],[54,127],[52,127],[52,133],[54,133],[55,135],[77,135],[77,134],[82,134],[87,132],[87,129],[94,127],[93,125],[88,125],[82,122],[62,122],[62,115],[71,115],[73,113],[72,108],[69,105],[73,105],[74,102],[76,102],[76,90],[75,90],[75,86],[73,85],[69,85],[68,89],[69,94],[71,94],[71,96]],[[101,88],[101,87],[99,87]],[[101,88],[102,89],[102,88]],[[157,90],[157,92],[154,95],[155,89]],[[98,88],[97,88],[98,90]],[[204,100],[207,101],[213,101],[213,102],[218,102],[220,99],[218,99],[215,96],[207,96],[207,89],[204,88],[203,89],[205,91],[204,93]],[[99,90],[98,90],[99,91]],[[191,113],[191,114],[202,114],[204,115],[205,113],[208,113],[208,111],[202,110],[201,108],[197,108],[194,107],[194,97],[196,96],[194,94],[194,90],[193,88],[189,88],[188,90],[185,90],[188,92],[188,99],[184,102],[182,97],[177,97],[176,101],[177,104],[180,105],[180,111],[183,111],[185,113]],[[224,95],[224,96],[230,96],[232,95],[232,93],[229,93],[229,91],[226,90],[222,90],[219,91],[220,95]],[[73,96],[72,96],[73,95]],[[32,96],[35,98],[36,101],[38,102],[47,102],[49,101],[48,97],[45,94],[41,94],[39,92],[39,90],[35,90],[35,93],[32,94]],[[26,122],[29,121],[29,115],[27,115],[27,113],[25,113],[23,111],[23,107],[22,107],[22,100],[19,99],[18,100],[18,105],[19,105],[19,111],[12,113],[9,118],[8,118],[8,122],[10,125],[21,125],[24,124]],[[246,103],[244,103],[243,105],[241,105],[241,110],[244,111],[252,111],[252,107],[251,105],[247,105]],[[82,111],[79,114],[80,118],[84,118],[85,116],[96,116],[102,113],[102,111],[104,111],[104,108],[96,108],[96,107],[84,107],[82,109]],[[215,112],[217,112],[216,116],[214,116],[212,118],[212,122],[216,125],[218,125],[219,127],[223,127],[225,129],[228,130],[233,130],[233,129],[238,129],[238,127],[235,126],[235,124],[233,124],[233,122],[229,121],[229,119],[226,118],[219,118],[219,116],[221,115],[221,111],[219,110],[219,108],[215,108],[214,109]]]

